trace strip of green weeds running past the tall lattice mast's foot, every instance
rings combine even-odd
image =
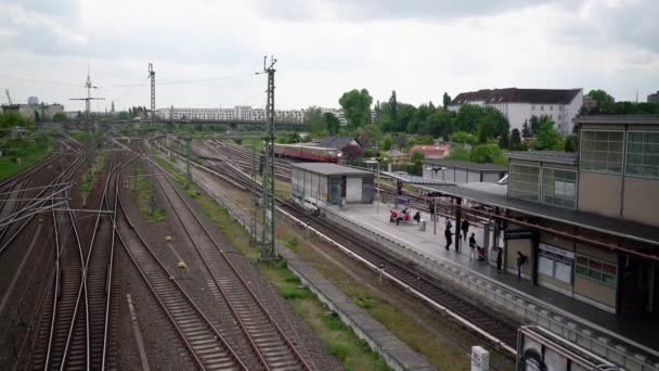
[[[166,159],[158,157],[158,163],[168,171],[177,175],[178,171]],[[185,184],[183,177],[175,176],[181,184]],[[208,218],[219,228],[224,236],[247,258],[257,261],[259,252],[249,243],[249,233],[240,226],[224,207],[218,205],[214,199],[199,192],[196,186],[191,190],[196,192],[193,202],[197,203]],[[287,247],[297,251],[299,240],[296,236],[280,241]],[[307,287],[301,285],[299,279],[288,270],[286,261],[275,264],[259,264],[259,270],[277,290],[279,294],[288,300],[295,311],[320,337],[324,346],[336,357],[344,361],[346,370],[389,370],[385,361],[371,350],[366,342],[354,335],[341,320],[332,314]]]

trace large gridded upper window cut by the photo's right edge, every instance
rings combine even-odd
[[[659,131],[629,131],[625,175],[659,179]]]

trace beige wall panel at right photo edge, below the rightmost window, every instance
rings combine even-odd
[[[625,177],[623,217],[659,227],[657,210],[659,210],[659,180]]]

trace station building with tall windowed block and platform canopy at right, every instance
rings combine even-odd
[[[496,221],[507,272],[517,274],[519,252],[528,257],[521,278],[534,285],[610,314],[659,320],[659,116],[574,124],[578,154],[507,154],[507,194],[436,189],[463,205],[457,214]],[[465,201],[477,207],[465,209]]]

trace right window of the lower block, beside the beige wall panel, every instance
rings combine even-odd
[[[543,167],[542,202],[574,208],[577,206],[577,171]]]

